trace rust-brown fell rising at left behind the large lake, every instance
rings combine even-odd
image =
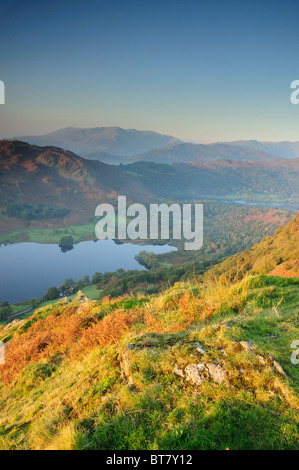
[[[44,204],[66,208],[65,223],[83,223],[102,202],[150,202],[153,194],[131,175],[101,162],[85,160],[57,147],[0,141],[0,209],[7,204]],[[54,221],[57,224],[59,221]],[[0,215],[0,231],[22,227],[22,220]]]

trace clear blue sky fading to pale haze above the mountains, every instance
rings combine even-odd
[[[0,0],[0,136],[299,140],[299,2]]]

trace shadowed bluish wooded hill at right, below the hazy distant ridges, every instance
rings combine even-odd
[[[252,201],[299,200],[299,159],[269,162],[137,162],[122,169],[150,191],[173,199],[228,198]]]

